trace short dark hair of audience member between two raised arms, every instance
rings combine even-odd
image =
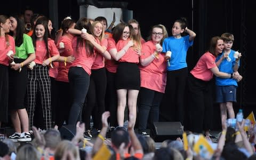
[[[130,142],[129,133],[124,127],[116,127],[111,133],[111,142],[116,148],[119,148],[123,142],[125,143],[125,147],[127,147]]]

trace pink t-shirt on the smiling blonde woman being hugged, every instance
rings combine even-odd
[[[107,38],[103,38],[101,42],[98,38],[96,38],[96,40],[97,40],[97,43],[100,44],[101,46],[105,46],[106,48],[108,47]],[[105,58],[103,57],[103,55],[98,51],[96,51],[95,49],[94,49],[94,52],[96,53],[96,58],[95,58],[95,61],[93,62],[92,69],[100,69],[105,67]]]

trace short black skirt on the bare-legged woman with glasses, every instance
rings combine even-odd
[[[140,90],[140,69],[136,63],[119,63],[116,71],[116,89]]]

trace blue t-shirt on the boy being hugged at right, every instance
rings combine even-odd
[[[236,59],[234,58],[234,53],[235,53],[234,50],[230,50],[230,53],[228,55],[229,58],[231,59],[230,62],[228,62],[227,59],[222,60],[222,62],[219,65],[219,70],[220,71],[228,73],[228,74],[233,74],[233,72],[234,72],[233,67],[236,63]],[[217,62],[222,57],[222,54],[223,54],[223,52],[218,55],[215,62]],[[238,67],[240,66],[239,62],[240,62],[240,60],[238,61]],[[237,82],[233,78],[215,77],[215,84],[218,85],[218,86],[226,86],[226,85],[235,85],[235,86],[237,86]]]

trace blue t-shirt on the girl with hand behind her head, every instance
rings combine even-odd
[[[173,36],[165,38],[163,41],[163,52],[171,51],[170,66],[167,70],[178,70],[187,67],[186,57],[188,48],[193,45],[194,41],[189,41],[189,35],[179,39]]]

